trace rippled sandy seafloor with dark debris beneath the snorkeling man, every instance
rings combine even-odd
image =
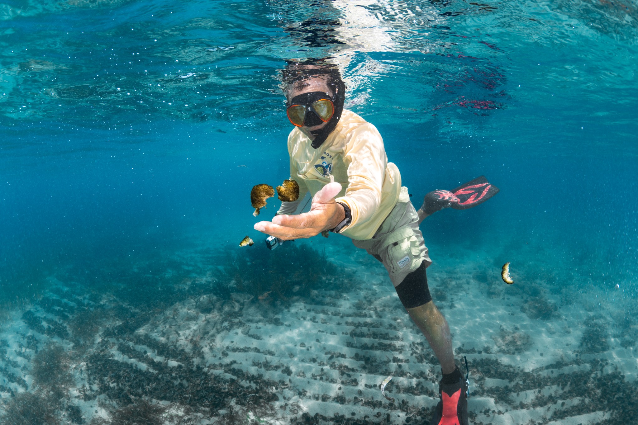
[[[3,319],[4,419],[429,423],[440,379],[432,350],[381,264],[334,238],[322,244],[327,259],[356,277],[286,301],[214,296],[207,267],[187,267],[186,278],[165,280],[170,289],[150,292],[89,291],[71,273],[66,282],[50,278],[50,291]],[[179,257],[197,264],[205,251]],[[434,301],[449,321],[459,366],[463,356],[470,365],[471,423],[638,423],[638,326],[624,313],[632,301],[621,288],[604,290],[573,270],[543,274],[533,263],[524,269],[536,270],[530,280],[514,259],[516,283],[506,285],[501,261],[484,252],[431,254]],[[395,403],[379,389],[390,374]]]

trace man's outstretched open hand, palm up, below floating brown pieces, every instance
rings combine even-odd
[[[324,230],[334,229],[344,218],[343,206],[334,201],[341,184],[329,183],[316,192],[310,211],[299,215],[276,215],[272,222],[255,223],[255,230],[281,240],[311,238]]]

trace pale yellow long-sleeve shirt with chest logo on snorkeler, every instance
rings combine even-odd
[[[352,223],[341,233],[356,240],[372,238],[401,192],[401,174],[388,162],[381,134],[356,113],[343,110],[323,144],[315,149],[311,143],[297,127],[288,135],[290,177],[299,183],[299,199],[283,203],[278,213],[294,212],[308,191],[315,196],[332,175],[343,186],[336,201],[352,212]]]

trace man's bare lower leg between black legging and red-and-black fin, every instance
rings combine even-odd
[[[452,373],[456,368],[454,352],[452,352],[452,336],[450,327],[433,301],[422,306],[408,308],[412,320],[419,326],[434,354],[441,363],[443,373]]]

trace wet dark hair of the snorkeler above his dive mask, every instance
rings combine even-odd
[[[286,61],[286,67],[281,70],[281,89],[287,93],[292,87],[306,87],[309,80],[317,77],[324,77],[333,93],[345,92],[346,85],[339,68],[325,59]]]

